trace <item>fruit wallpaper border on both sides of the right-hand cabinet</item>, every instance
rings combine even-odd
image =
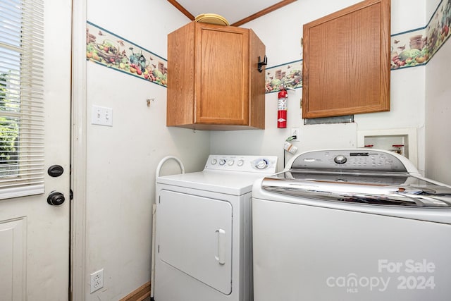
[[[451,35],[451,0],[442,0],[426,27],[391,36],[390,70],[426,65]],[[266,68],[266,93],[302,87],[302,60]]]

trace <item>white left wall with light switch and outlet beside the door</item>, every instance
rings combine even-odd
[[[167,58],[166,37],[189,20],[168,1],[88,0],[87,20]],[[85,30],[84,28],[80,30]],[[147,107],[146,99],[155,98]],[[113,127],[90,124],[92,105]],[[209,132],[166,128],[166,88],[87,61],[87,287],[85,300],[119,300],[150,279],[155,170],[168,154],[202,169]],[[178,173],[168,162],[162,173]],[[89,274],[104,288],[89,294]]]

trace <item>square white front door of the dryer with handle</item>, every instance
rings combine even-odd
[[[157,208],[159,257],[226,295],[232,291],[232,205],[161,191]]]

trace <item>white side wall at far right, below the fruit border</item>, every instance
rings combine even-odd
[[[451,185],[451,41],[426,65],[426,176]]]

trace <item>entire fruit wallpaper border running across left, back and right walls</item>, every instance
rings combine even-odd
[[[391,36],[390,69],[426,65],[451,32],[451,0],[441,0],[426,27]],[[123,37],[87,21],[86,59],[163,87],[167,82],[167,60]],[[280,85],[302,87],[302,59],[266,68],[266,93]]]

